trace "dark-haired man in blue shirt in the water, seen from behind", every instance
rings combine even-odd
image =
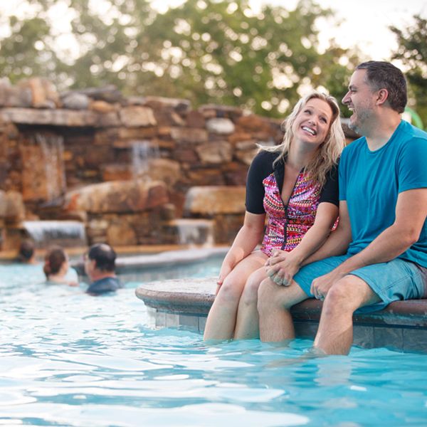
[[[85,273],[92,280],[88,294],[100,295],[123,287],[115,275],[115,258],[115,251],[105,243],[90,246],[85,255]]]

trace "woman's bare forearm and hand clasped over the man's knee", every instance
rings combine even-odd
[[[337,219],[338,206],[324,202],[317,208],[315,223],[290,252],[277,251],[267,260],[267,274],[280,285],[288,285],[305,260],[315,253],[330,235]]]

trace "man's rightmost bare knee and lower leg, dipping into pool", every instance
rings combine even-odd
[[[355,275],[347,275],[327,292],[314,348],[325,354],[349,354],[353,343],[353,313],[381,299]]]

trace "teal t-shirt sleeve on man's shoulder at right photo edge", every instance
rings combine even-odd
[[[427,139],[413,137],[399,156],[399,193],[427,187]]]

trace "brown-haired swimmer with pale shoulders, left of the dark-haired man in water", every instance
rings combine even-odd
[[[60,246],[53,246],[46,252],[43,271],[48,283],[78,286],[77,273],[68,263],[68,256]]]

